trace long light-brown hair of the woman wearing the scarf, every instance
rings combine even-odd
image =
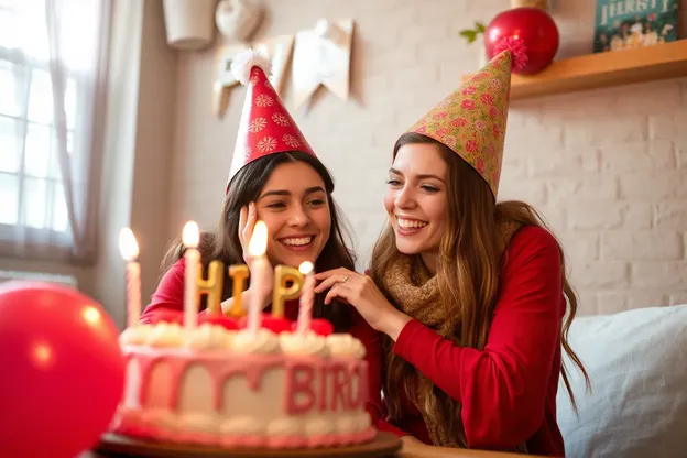
[[[456,153],[433,139],[406,133],[396,142],[394,156],[401,146],[410,143],[436,144],[448,166],[448,216],[445,235],[439,243],[437,280],[444,307],[444,321],[446,326],[452,326],[452,329],[444,331],[449,339],[464,347],[482,350],[489,336],[503,265],[504,247],[499,227],[505,221],[544,228],[546,225],[537,211],[525,203],[511,200],[497,204],[487,182]],[[558,248],[563,268],[563,290],[569,306],[560,339],[563,348],[581,370],[587,386],[590,388],[587,371],[568,344],[568,331],[577,312],[577,297],[565,273],[565,257],[560,243]],[[392,304],[394,302],[384,286],[383,274],[397,255],[395,235],[388,226],[374,247],[370,275]],[[459,432],[457,443],[465,446],[460,404],[427,379],[421,378],[417,381],[415,368],[396,357],[391,351],[393,341],[384,337],[386,358],[383,389],[391,417],[396,419],[401,415],[401,390],[405,390],[408,399],[423,403],[423,410],[434,417],[436,424],[447,425],[449,432]],[[577,410],[565,362],[561,373],[572,405]]]

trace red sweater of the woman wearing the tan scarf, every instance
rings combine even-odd
[[[565,309],[556,240],[542,228],[526,227],[508,248],[483,351],[461,348],[412,320],[394,352],[462,404],[470,448],[525,441],[530,454],[564,456],[556,393]],[[430,444],[421,413],[407,399],[402,403],[405,414],[397,426]]]

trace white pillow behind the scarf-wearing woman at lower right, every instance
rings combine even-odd
[[[566,357],[579,410],[561,378],[567,457],[687,457],[687,304],[579,317],[569,340],[592,393]]]

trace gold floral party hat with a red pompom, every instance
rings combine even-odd
[[[445,144],[462,157],[484,178],[494,198],[503,160],[511,70],[527,61],[521,41],[506,39],[497,53],[478,74],[408,129]]]

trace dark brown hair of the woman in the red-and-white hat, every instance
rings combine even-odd
[[[315,261],[317,272],[323,272],[336,268],[356,269],[356,258],[349,249],[350,237],[345,221],[339,217],[338,207],[334,200],[334,179],[331,174],[319,160],[310,154],[302,152],[288,152],[281,154],[270,154],[255,160],[241,168],[229,184],[229,193],[225,197],[225,205],[219,218],[216,233],[203,232],[198,250],[200,251],[204,270],[210,261],[219,260],[225,265],[240,264],[243,261],[243,249],[239,239],[239,215],[241,207],[251,201],[255,201],[262,192],[272,172],[281,164],[287,162],[303,162],[313,167],[325,183],[327,201],[329,204],[329,215],[331,230],[329,239],[325,243],[321,253]],[[178,261],[184,253],[184,246],[181,241],[174,241],[162,262],[162,270],[165,272],[172,264]],[[250,279],[249,279],[250,283]],[[232,282],[227,270],[225,270],[222,301],[231,296]],[[342,331],[351,326],[350,306],[339,301],[332,301],[325,306],[326,294],[317,294],[313,306],[315,318],[325,318],[331,321],[336,331]],[[200,309],[206,307],[205,298],[200,304]]]

